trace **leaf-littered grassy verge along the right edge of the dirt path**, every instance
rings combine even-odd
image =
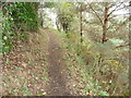
[[[83,61],[82,57],[79,57],[75,50],[75,39],[67,38],[66,34],[58,34],[62,38],[61,47],[64,50],[64,60],[68,65],[69,73],[69,89],[72,91],[72,95],[102,95],[107,96],[106,91],[99,90],[100,86],[97,84],[97,81],[94,81],[93,77],[87,73],[87,65]],[[71,42],[73,41],[73,42]],[[74,42],[75,41],[75,42]]]

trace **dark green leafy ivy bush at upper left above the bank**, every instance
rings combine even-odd
[[[13,48],[16,40],[26,40],[26,33],[23,32],[37,32],[38,17],[37,17],[38,3],[29,2],[14,2],[3,7],[0,16],[2,17],[2,52],[5,53]]]

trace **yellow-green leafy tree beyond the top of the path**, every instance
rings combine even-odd
[[[71,2],[62,2],[57,11],[58,24],[60,24],[66,33],[71,30],[71,23],[75,17],[74,4]]]

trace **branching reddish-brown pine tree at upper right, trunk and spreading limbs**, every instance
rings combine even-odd
[[[105,41],[108,40],[107,33],[109,32],[109,29],[111,29],[115,26],[114,22],[118,16],[114,13],[122,9],[126,9],[127,5],[124,5],[123,2],[119,2],[119,3],[103,2],[103,3],[88,3],[88,7],[90,7],[88,13],[94,14],[94,16],[98,19],[98,23],[100,23],[100,26],[103,29],[102,44],[104,44]],[[104,9],[104,10],[100,10],[100,9]],[[121,28],[121,26],[123,26],[123,24],[126,24],[127,22],[128,22],[128,19],[126,19],[121,24],[118,24],[118,26],[116,26],[115,29],[120,30],[119,28]],[[110,24],[114,24],[114,25],[110,25]]]

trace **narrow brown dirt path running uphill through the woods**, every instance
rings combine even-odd
[[[47,95],[49,96],[69,96],[70,91],[67,87],[68,76],[66,63],[62,60],[62,50],[60,48],[60,38],[51,30],[47,30],[49,36],[48,42],[48,70],[49,70],[49,87]]]

